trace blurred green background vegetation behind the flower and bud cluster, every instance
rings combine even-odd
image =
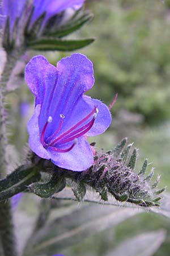
[[[88,94],[109,105],[118,93],[111,110],[111,127],[90,141],[95,140],[98,148],[109,149],[128,137],[129,142],[135,142],[135,147],[139,148],[138,166],[148,158],[153,162],[156,175],[162,176],[160,187],[167,186],[170,191],[170,2],[90,0],[86,7],[94,13],[94,20],[70,38],[96,38],[91,46],[79,50],[94,63],[95,86]],[[44,54],[55,64],[70,53]],[[35,55],[35,52],[29,55]],[[33,97],[23,86],[22,90],[11,93],[7,100],[10,102],[10,122],[15,131],[19,131],[20,141],[10,135],[11,143],[18,148],[19,161],[27,142],[25,127],[33,112]],[[24,102],[32,103],[26,117],[18,114]],[[16,133],[12,131],[12,134]],[[167,230],[167,239],[154,255],[169,256],[170,222],[151,213],[138,214],[115,229],[86,238],[63,250],[63,254],[104,256],[107,250],[128,237],[162,228]]]

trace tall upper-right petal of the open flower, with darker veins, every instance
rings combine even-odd
[[[60,114],[70,116],[82,94],[94,85],[92,62],[80,53],[58,61],[57,71],[57,89],[49,108],[53,123],[58,123]],[[56,127],[53,126],[53,131],[55,130]]]

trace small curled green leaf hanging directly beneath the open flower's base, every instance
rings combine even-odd
[[[48,198],[52,196],[54,193],[62,191],[66,186],[66,180],[64,177],[56,177],[54,174],[52,179],[47,183],[33,183],[29,186],[29,189],[35,193],[37,196],[42,198]]]

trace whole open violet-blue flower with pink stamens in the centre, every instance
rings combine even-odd
[[[101,134],[111,123],[107,106],[83,95],[94,84],[91,61],[74,53],[56,68],[44,56],[35,56],[25,67],[25,81],[35,95],[27,126],[31,150],[59,167],[86,170],[93,155],[84,135]]]

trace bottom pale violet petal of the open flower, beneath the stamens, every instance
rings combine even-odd
[[[47,148],[50,158],[56,166],[72,171],[84,171],[93,162],[93,155],[90,145],[84,137],[78,138],[75,146],[66,153],[57,153]]]

